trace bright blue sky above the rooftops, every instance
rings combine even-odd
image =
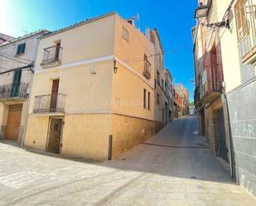
[[[45,28],[53,31],[89,17],[115,11],[121,17],[140,15],[140,28],[157,28],[165,50],[165,66],[193,99],[191,27],[197,0],[1,0],[0,32],[22,36]]]

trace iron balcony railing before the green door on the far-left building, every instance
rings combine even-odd
[[[0,98],[27,98],[27,83],[6,84],[0,86]]]

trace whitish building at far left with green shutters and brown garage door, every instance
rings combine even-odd
[[[22,143],[38,38],[46,32],[19,38],[0,35],[5,39],[0,45],[0,139]]]

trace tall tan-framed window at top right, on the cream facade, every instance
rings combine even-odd
[[[249,21],[246,18],[245,2],[246,0],[239,0],[234,7],[239,41],[242,41],[249,34]]]

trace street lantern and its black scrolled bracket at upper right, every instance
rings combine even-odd
[[[200,2],[199,7],[196,8],[194,18],[198,19],[198,18],[207,17],[209,11],[210,11],[210,3],[203,5]],[[225,22],[215,22],[215,23],[211,23],[211,24],[206,24],[205,26],[207,26],[207,27],[215,27],[216,26],[216,27],[229,28],[229,20],[227,20]]]

